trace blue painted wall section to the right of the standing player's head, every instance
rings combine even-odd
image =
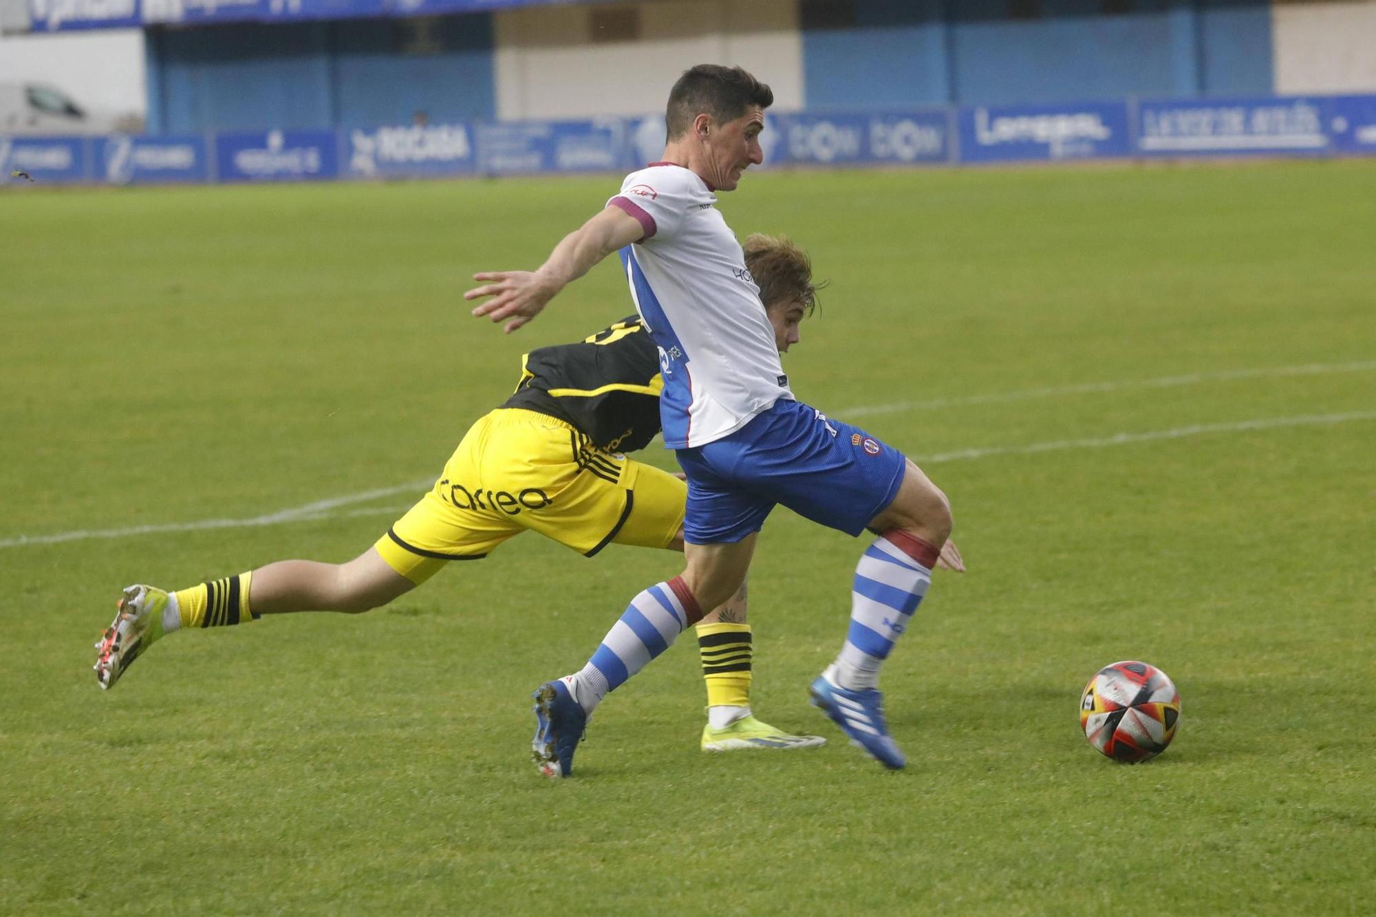
[[[801,3],[809,109],[1255,95],[1273,87],[1267,0]]]

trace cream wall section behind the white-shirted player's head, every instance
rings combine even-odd
[[[594,11],[634,7],[636,41],[592,41]],[[663,112],[695,63],[740,65],[768,83],[776,110],[802,107],[797,0],[660,0],[497,12],[498,118]]]

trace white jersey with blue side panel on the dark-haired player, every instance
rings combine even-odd
[[[632,172],[607,202],[645,230],[621,259],[659,347],[659,416],[670,449],[721,439],[793,398],[760,288],[716,202],[706,182],[671,162]]]

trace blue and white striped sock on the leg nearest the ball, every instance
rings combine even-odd
[[[839,687],[878,687],[879,666],[932,585],[937,555],[937,548],[901,529],[885,531],[861,555],[850,587],[850,629],[834,668]]]

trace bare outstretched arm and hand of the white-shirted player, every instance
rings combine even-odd
[[[608,207],[579,229],[566,235],[538,271],[482,271],[476,281],[490,281],[464,293],[464,299],[483,299],[473,315],[487,315],[494,322],[506,319],[508,335],[539,314],[559,291],[592,270],[593,264],[632,242],[645,230],[634,216]]]

